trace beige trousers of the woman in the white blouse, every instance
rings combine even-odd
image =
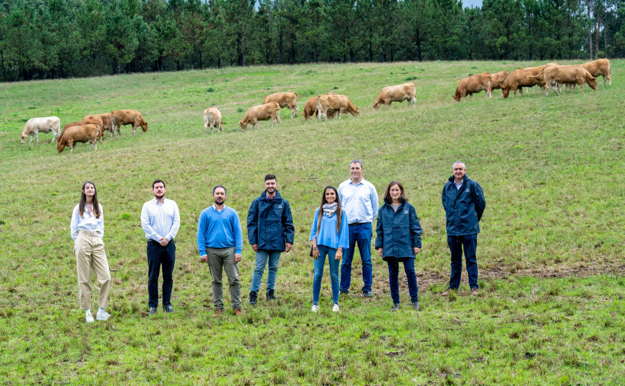
[[[76,243],[76,270],[78,270],[78,299],[81,309],[91,309],[91,270],[100,285],[98,306],[106,308],[110,290],[110,272],[104,252],[104,243],[97,231],[78,231]]]

